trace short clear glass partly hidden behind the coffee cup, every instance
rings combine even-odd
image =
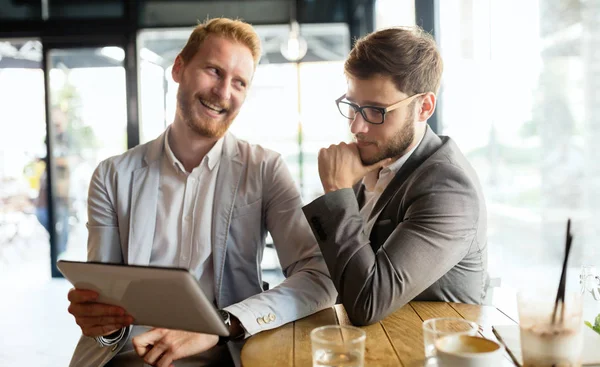
[[[435,341],[448,335],[476,336],[479,327],[465,319],[443,317],[423,321],[423,345],[425,358],[435,357]]]

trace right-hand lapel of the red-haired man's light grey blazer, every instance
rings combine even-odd
[[[222,305],[221,285],[227,254],[227,235],[243,169],[244,164],[239,158],[237,140],[228,133],[223,141],[213,204],[212,252],[217,307]]]

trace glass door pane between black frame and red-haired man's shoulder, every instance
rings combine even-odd
[[[127,99],[123,48],[50,46],[46,58],[50,170],[42,190],[51,190],[53,210],[36,210],[48,216],[40,220],[46,230],[54,229],[55,276],[55,260],[86,259],[89,182],[100,161],[127,149]]]

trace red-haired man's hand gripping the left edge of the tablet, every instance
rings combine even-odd
[[[68,299],[69,313],[85,336],[110,335],[133,323],[133,317],[121,307],[97,303],[98,293],[94,291],[72,288]]]

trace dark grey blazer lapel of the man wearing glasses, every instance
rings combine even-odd
[[[369,215],[369,219],[374,216],[378,216],[383,208],[390,202],[392,197],[396,194],[399,187],[402,186],[402,183],[406,181],[406,179],[413,174],[413,172],[419,167],[427,158],[433,154],[441,145],[442,140],[439,136],[437,136],[431,129],[429,125],[425,130],[425,135],[423,136],[423,140],[415,149],[413,154],[408,158],[408,160],[402,165],[400,170],[396,173],[396,176],[390,181],[385,190],[381,193],[379,200],[375,203],[375,207],[373,207],[373,211]]]

